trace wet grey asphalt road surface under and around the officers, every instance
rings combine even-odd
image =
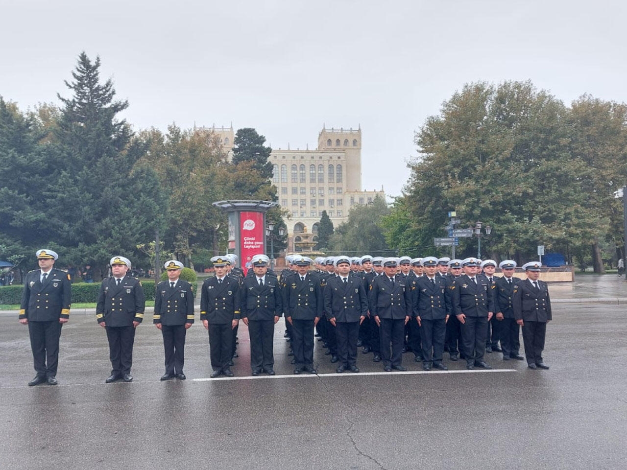
[[[594,276],[598,278],[599,276]],[[250,377],[246,327],[233,379],[208,379],[209,340],[187,333],[187,380],[161,382],[161,333],[138,327],[130,384],[105,384],[107,338],[95,315],[73,313],[61,335],[59,385],[34,376],[28,331],[0,315],[0,467],[6,469],[625,469],[627,296],[616,276],[566,293],[550,285],[554,321],[545,362],[487,354],[492,371],[335,374],[315,343],[318,375],[292,375],[283,319],[275,377]],[[571,285],[572,286],[572,285]],[[564,291],[558,294],[558,291]],[[593,300],[608,298],[608,303]],[[571,302],[569,303],[569,299]],[[521,338],[522,343],[522,338]]]

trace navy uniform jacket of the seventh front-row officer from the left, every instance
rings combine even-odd
[[[327,318],[340,323],[359,321],[368,313],[368,300],[362,279],[348,276],[344,285],[340,276],[327,279],[324,287],[324,311]]]

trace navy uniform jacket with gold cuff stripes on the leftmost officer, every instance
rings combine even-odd
[[[19,319],[28,321],[54,321],[70,318],[71,282],[70,274],[52,268],[43,285],[40,282],[41,269],[26,274]]]

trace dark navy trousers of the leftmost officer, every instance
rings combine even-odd
[[[55,377],[59,363],[59,339],[61,338],[59,320],[29,321],[28,335],[33,350],[33,365],[40,377]]]

